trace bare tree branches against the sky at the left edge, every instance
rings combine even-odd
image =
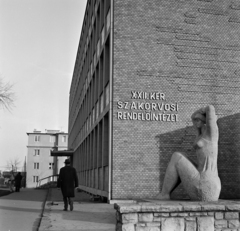
[[[4,83],[0,78],[0,107],[11,110],[14,102],[13,85]]]

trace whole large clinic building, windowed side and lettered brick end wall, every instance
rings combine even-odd
[[[239,38],[239,1],[89,0],[69,116],[82,188],[154,197],[174,151],[195,158],[190,117],[212,104],[220,197],[239,198]],[[181,186],[173,193],[185,196]]]

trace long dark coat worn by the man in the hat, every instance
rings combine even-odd
[[[76,169],[65,166],[60,169],[58,187],[61,188],[64,197],[74,197],[74,189],[78,187],[78,177]]]

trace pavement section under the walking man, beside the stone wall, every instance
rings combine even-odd
[[[49,190],[39,231],[114,231],[116,226],[113,205],[90,201],[84,192],[76,192],[74,210],[63,211],[59,189]]]

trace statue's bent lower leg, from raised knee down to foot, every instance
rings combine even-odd
[[[170,193],[178,186],[181,182],[177,171],[177,163],[182,158],[182,154],[179,152],[173,153],[171,160],[168,164],[166,174],[163,181],[163,187],[161,193],[156,198],[160,200],[169,200]]]

